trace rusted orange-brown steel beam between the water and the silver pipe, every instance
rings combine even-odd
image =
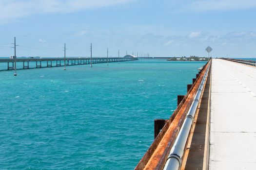
[[[135,170],[162,170],[167,156],[176,140],[179,129],[186,117],[186,114],[193,102],[194,96],[203,78],[203,75],[208,68],[205,67],[202,74],[195,80],[192,88],[178,105],[177,109],[172,114],[171,118],[166,122],[162,131],[158,134],[154,142],[151,144],[147,152],[139,161]]]

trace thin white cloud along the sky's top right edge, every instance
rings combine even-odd
[[[194,0],[184,6],[189,11],[219,11],[256,8],[256,0]]]

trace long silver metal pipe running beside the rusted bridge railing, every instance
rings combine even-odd
[[[198,87],[197,94],[194,97],[194,101],[192,102],[189,108],[189,111],[187,113],[187,116],[180,128],[178,136],[174,142],[174,145],[170,151],[170,154],[168,155],[168,159],[165,163],[163,170],[179,170],[180,168],[180,165],[182,162],[181,158],[183,156],[185,145],[189,136],[189,132],[194,121],[194,116],[197,111],[197,106],[198,106],[199,99],[206,81],[206,77],[208,75],[209,68],[210,67],[207,68],[203,76],[203,79],[201,81],[201,84]]]

